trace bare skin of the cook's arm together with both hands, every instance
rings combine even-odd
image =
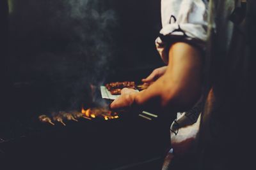
[[[200,50],[188,43],[174,43],[169,49],[168,65],[159,70],[161,73],[143,80],[145,83],[156,80],[148,89],[141,92],[122,89],[121,96],[111,103],[110,108],[115,110],[138,106],[148,111],[169,114],[191,108],[199,99],[202,88]]]

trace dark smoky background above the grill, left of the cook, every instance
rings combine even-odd
[[[163,64],[154,43],[160,0],[6,0],[0,8],[4,115],[13,105],[80,109],[91,84],[140,80]]]

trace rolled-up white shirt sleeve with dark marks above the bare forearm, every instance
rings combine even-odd
[[[207,40],[208,2],[206,0],[161,0],[163,28],[156,47],[168,63],[168,48],[177,41],[186,41],[204,50]]]

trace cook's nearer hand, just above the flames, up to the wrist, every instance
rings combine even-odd
[[[127,89],[124,88],[121,90],[121,96],[115,99],[113,103],[110,104],[111,109],[116,109],[116,108],[127,108],[134,103],[135,95],[138,93],[138,91],[134,89]]]

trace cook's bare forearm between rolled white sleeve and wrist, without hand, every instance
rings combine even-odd
[[[202,56],[193,46],[175,43],[169,50],[166,73],[148,89],[134,95],[134,103],[141,106],[186,110],[198,97],[202,85]]]

